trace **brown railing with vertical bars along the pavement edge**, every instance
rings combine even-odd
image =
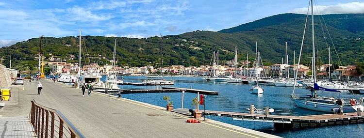
[[[85,138],[60,111],[31,102],[30,120],[38,138]]]

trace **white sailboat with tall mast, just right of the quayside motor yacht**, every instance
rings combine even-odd
[[[115,74],[115,63],[116,63],[116,38],[115,38],[115,46],[114,46],[114,53],[113,53],[113,68],[114,68],[114,73],[113,74],[109,74],[106,77],[106,80],[105,80],[105,88],[107,88],[107,89],[120,89],[119,87],[117,87],[117,85],[123,83],[123,80],[118,80],[117,79],[117,76]]]

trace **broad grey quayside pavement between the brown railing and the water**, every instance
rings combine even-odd
[[[26,82],[25,91],[22,87],[14,87],[13,92],[18,91],[17,103],[5,105],[0,115],[27,116],[30,101],[35,99],[38,104],[61,111],[87,138],[277,137],[212,120],[186,123],[187,116],[165,111],[164,107],[97,92],[82,97],[79,89],[50,80],[40,81],[43,84],[41,95],[37,95],[36,81]]]

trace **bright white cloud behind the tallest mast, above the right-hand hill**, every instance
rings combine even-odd
[[[316,10],[317,9],[317,10]],[[349,3],[339,3],[336,5],[314,6],[314,14],[327,15],[327,14],[359,14],[364,13],[364,2],[349,2]],[[297,14],[307,14],[307,7],[297,8],[290,11],[290,13]]]

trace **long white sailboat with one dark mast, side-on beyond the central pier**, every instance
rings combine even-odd
[[[173,80],[163,79],[163,53],[162,53],[162,34],[161,34],[161,79],[146,79],[143,81],[144,85],[174,85]],[[147,77],[148,78],[148,77]]]

